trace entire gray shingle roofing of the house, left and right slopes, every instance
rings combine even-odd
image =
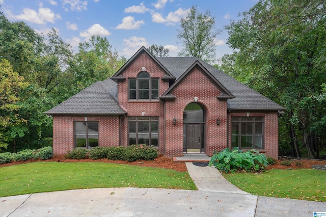
[[[162,67],[165,67],[166,70],[168,70],[169,76],[173,75],[176,77],[176,82],[178,82],[178,78],[180,78],[189,67],[191,67],[196,61],[199,61],[202,66],[209,71],[209,73],[211,73],[233,96],[235,96],[233,99],[228,99],[228,109],[246,111],[286,110],[283,106],[271,101],[246,85],[239,83],[236,79],[199,58],[167,57],[157,58],[157,61],[159,62],[158,64],[161,64]],[[80,91],[56,107],[53,107],[45,114],[121,115],[125,113],[126,112],[118,103],[118,84],[111,78],[107,78],[102,82],[96,82],[83,91]]]

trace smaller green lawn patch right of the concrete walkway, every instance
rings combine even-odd
[[[268,170],[259,174],[223,174],[252,195],[326,202],[326,171],[314,169]]]

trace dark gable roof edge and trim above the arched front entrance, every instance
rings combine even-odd
[[[221,97],[221,99],[226,100],[226,99],[231,99],[234,98],[234,96],[219,82],[218,79],[216,79],[198,60],[196,60],[193,65],[191,65],[187,70],[185,70],[185,72],[183,74],[181,74],[178,79],[176,80],[175,83],[173,83],[173,85],[170,86],[170,88],[164,93],[162,94],[162,96],[160,97],[161,99],[169,99],[169,98],[175,98],[175,96],[173,96],[171,94],[171,91],[178,86],[178,84],[183,80],[183,78],[186,77],[186,75],[188,73],[190,73],[195,67],[199,67],[200,69],[202,69],[202,71],[204,72],[204,74],[210,78],[213,82],[213,84],[220,89],[220,91],[222,92],[219,97]],[[170,96],[169,96],[170,95]],[[172,96],[171,96],[172,95]]]

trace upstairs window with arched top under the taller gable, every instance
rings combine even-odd
[[[158,100],[158,78],[142,71],[137,78],[128,78],[129,100]]]

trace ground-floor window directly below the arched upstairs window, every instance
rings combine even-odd
[[[129,117],[128,130],[128,145],[158,147],[158,117]]]

